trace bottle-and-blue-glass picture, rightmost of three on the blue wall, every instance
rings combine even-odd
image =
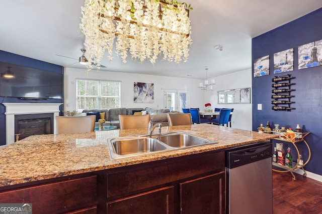
[[[322,40],[314,41],[298,47],[298,69],[322,65]]]

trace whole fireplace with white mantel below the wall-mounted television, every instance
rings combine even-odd
[[[46,134],[42,132],[54,132],[54,118],[59,115],[59,106],[62,103],[3,103],[6,106],[6,145],[12,144],[15,142],[16,136],[18,134],[18,127],[16,126],[16,117],[22,118],[19,120],[21,128],[24,129],[24,132],[37,132],[41,134]],[[39,117],[39,114],[42,116]],[[27,116],[29,115],[29,116]],[[50,115],[50,116],[49,116]],[[47,118],[47,119],[46,119]],[[50,120],[50,122],[49,122]],[[33,124],[32,127],[29,127],[25,130],[24,123]],[[43,123],[43,129],[39,130],[39,128],[34,127]],[[50,128],[48,128],[50,123]],[[17,124],[19,126],[19,122]],[[22,130],[21,130],[22,131]],[[29,134],[33,135],[33,134]],[[27,137],[27,136],[26,136]],[[19,136],[19,139],[22,139]]]

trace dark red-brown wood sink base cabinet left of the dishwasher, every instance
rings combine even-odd
[[[224,213],[224,152],[106,170],[100,213]],[[106,205],[106,207],[104,207]]]

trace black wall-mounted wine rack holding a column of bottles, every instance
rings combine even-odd
[[[272,79],[272,87],[274,88],[272,90],[273,95],[271,96],[272,99],[272,110],[274,111],[291,111],[292,108],[291,104],[295,103],[291,101],[292,97],[295,97],[294,95],[291,95],[292,91],[295,91],[295,89],[291,89],[292,85],[295,85],[295,83],[291,83],[291,80],[295,77],[291,77],[290,74],[285,76],[275,76],[275,78]]]

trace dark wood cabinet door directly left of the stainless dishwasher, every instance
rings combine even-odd
[[[219,172],[180,183],[182,214],[224,213],[225,172]]]

